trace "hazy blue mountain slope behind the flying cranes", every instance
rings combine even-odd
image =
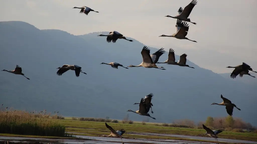
[[[187,52],[187,64],[195,69],[166,64],[158,66],[167,70],[100,65],[113,61],[138,65],[144,46],[133,38],[134,42],[119,39],[115,44],[107,43],[106,37],[97,37],[100,33],[108,32],[75,36],[61,30],[40,30],[20,21],[0,22],[0,69],[13,70],[19,65],[31,79],[1,71],[0,102],[16,109],[60,111],[64,116],[123,119],[129,114],[132,120],[142,120],[144,116],[126,111],[138,110],[133,104],[153,93],[154,114],[150,115],[156,120],[150,121],[170,123],[227,116],[224,106],[210,106],[222,102],[222,94],[241,109],[234,109],[234,117],[257,125],[256,85],[200,68]],[[151,54],[158,50],[149,48]],[[173,49],[178,54],[177,48]],[[168,52],[159,61],[167,57]],[[67,71],[57,76],[56,68],[63,64],[79,65],[87,75],[77,78],[74,71]]]

